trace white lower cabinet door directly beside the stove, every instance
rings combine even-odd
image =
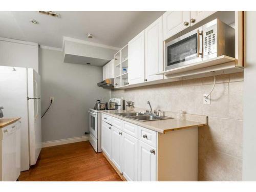
[[[104,121],[101,123],[101,149],[111,159],[112,126]]]

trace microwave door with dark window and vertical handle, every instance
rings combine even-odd
[[[203,60],[200,27],[165,44],[165,71]]]

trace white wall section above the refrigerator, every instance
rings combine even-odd
[[[38,72],[38,45],[0,37],[0,65],[32,68]]]

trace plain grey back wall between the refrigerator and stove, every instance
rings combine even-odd
[[[102,68],[63,62],[63,53],[39,49],[42,114],[54,96],[50,110],[42,118],[42,141],[83,136],[89,132],[89,108],[96,99],[109,99],[109,90],[97,87]]]

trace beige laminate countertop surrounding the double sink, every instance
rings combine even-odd
[[[176,131],[181,129],[188,129],[190,127],[195,126],[204,126],[206,123],[196,122],[196,121],[188,121],[188,120],[178,120],[178,119],[163,119],[163,120],[155,120],[155,121],[138,121],[131,118],[122,117],[119,115],[115,115],[115,113],[124,113],[124,110],[115,110],[115,111],[101,111],[101,113],[110,115],[112,117],[137,124],[139,126],[145,127],[147,129],[159,132],[166,133],[168,131]]]

